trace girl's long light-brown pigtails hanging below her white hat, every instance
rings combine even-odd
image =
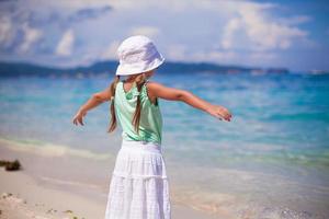
[[[143,73],[137,73],[137,74],[133,74],[128,78],[133,79],[133,83],[136,83],[137,90],[138,92],[141,91],[141,87],[144,85],[144,83],[146,82],[146,76],[145,72]],[[111,125],[110,128],[107,130],[107,132],[112,132],[115,128],[116,128],[116,117],[115,117],[115,108],[114,108],[114,96],[115,96],[115,90],[116,90],[116,85],[120,82],[120,76],[114,76],[114,79],[110,85],[110,90],[112,93],[112,102],[111,102],[111,107],[110,107],[110,112],[111,112]],[[137,104],[136,104],[136,110],[134,113],[134,117],[132,120],[132,124],[135,128],[135,131],[137,131],[137,134],[139,134],[139,122],[140,122],[140,112],[141,112],[141,104],[140,104],[140,95],[137,96]]]

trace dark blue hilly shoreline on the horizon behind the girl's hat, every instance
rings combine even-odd
[[[5,62],[0,61],[0,77],[18,76],[88,76],[88,74],[114,74],[117,61],[99,61],[87,67],[57,68],[41,66],[30,62]],[[243,66],[222,66],[209,62],[171,62],[167,61],[159,68],[163,73],[241,73],[250,72],[253,74],[263,73],[290,73],[287,68],[258,68]]]

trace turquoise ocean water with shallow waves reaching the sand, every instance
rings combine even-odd
[[[329,74],[193,73],[151,79],[227,107],[231,122],[160,100],[174,198],[238,218],[329,218]],[[110,103],[75,113],[112,76],[0,78],[0,140],[49,153],[113,159]]]

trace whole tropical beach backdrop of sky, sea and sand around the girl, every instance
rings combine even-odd
[[[227,107],[160,99],[171,219],[329,218],[324,1],[0,1],[0,218],[103,219],[122,128],[116,49],[150,37],[151,80]],[[20,166],[18,168],[18,162]],[[148,218],[149,219],[149,218]]]

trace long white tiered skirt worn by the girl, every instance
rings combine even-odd
[[[160,145],[123,139],[110,183],[105,219],[171,219]]]

